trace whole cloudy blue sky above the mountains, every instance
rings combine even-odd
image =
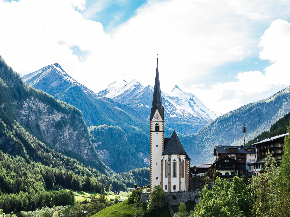
[[[177,84],[216,113],[290,85],[290,2],[0,0],[0,53],[27,74],[58,62],[95,92]],[[21,35],[21,37],[19,37]]]

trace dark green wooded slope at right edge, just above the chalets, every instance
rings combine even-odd
[[[287,127],[289,127],[290,122],[290,112],[284,115],[284,117],[280,118],[275,124],[270,127],[269,131],[264,131],[263,133],[259,134],[255,138],[249,140],[246,145],[249,146],[257,142],[257,139],[267,139],[269,138],[269,133],[271,136],[281,135],[287,132]]]

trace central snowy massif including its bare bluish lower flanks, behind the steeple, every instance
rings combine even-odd
[[[152,104],[153,87],[144,87],[135,79],[118,80],[98,94],[134,108],[149,120],[147,111]],[[182,134],[195,133],[217,117],[195,95],[183,92],[177,85],[169,93],[162,92],[162,103],[166,126]]]

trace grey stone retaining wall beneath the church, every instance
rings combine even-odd
[[[180,202],[185,203],[188,201],[195,201],[195,196],[200,191],[189,191],[189,192],[172,192],[172,193],[166,193],[167,196],[163,200],[163,205],[180,205]],[[148,197],[150,193],[140,193],[142,202],[147,203]]]

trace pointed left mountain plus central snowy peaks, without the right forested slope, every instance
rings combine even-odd
[[[22,77],[28,85],[82,111],[90,139],[100,159],[115,172],[149,165],[148,117],[153,88],[136,80],[113,82],[94,93],[66,73],[58,63]],[[111,99],[113,98],[113,99]],[[164,93],[166,135],[173,131],[195,133],[217,116],[193,94],[177,86]],[[116,164],[111,159],[119,159]]]

